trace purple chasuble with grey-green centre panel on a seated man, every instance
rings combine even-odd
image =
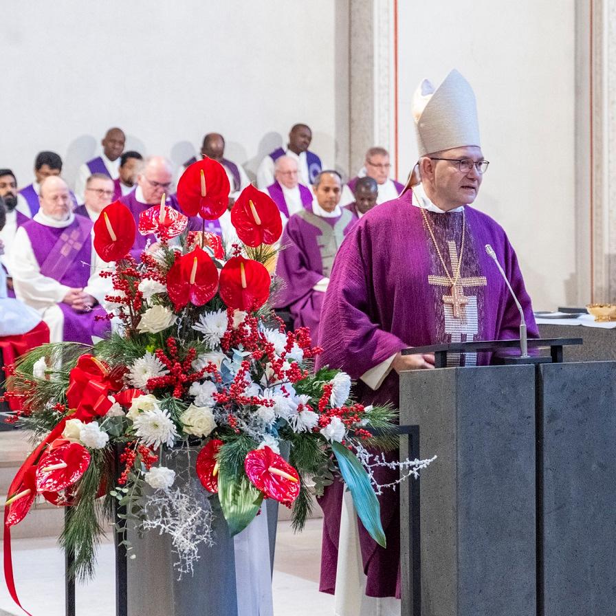
[[[344,236],[357,222],[348,210],[338,217],[325,218],[309,210],[294,214],[281,239],[286,246],[278,255],[276,274],[285,287],[274,307],[289,307],[294,327],[309,327],[313,344],[318,344],[318,324],[324,293],[314,290],[322,278],[329,278],[334,257]]]

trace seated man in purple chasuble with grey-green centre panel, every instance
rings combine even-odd
[[[357,217],[340,208],[342,179],[337,171],[326,170],[314,181],[314,202],[287,223],[276,263],[276,274],[285,287],[274,299],[275,307],[286,308],[294,327],[310,327],[312,342],[318,344],[321,305],[333,259],[344,236]]]

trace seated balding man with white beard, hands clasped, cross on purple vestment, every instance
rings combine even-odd
[[[41,184],[41,209],[17,230],[10,258],[17,298],[39,312],[52,342],[92,343],[109,331],[100,307],[111,292],[105,265],[92,248],[92,223],[72,212],[60,177]],[[99,317],[99,318],[97,318]]]

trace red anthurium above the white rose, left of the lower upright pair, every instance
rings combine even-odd
[[[218,289],[218,270],[210,255],[201,248],[177,256],[167,274],[167,293],[176,310],[190,303],[207,304]]]

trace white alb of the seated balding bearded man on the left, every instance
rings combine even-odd
[[[74,219],[75,214],[71,213],[65,221],[57,221],[39,211],[34,214],[33,220],[48,227],[65,228]],[[104,296],[111,294],[113,289],[111,278],[101,278],[98,274],[102,270],[109,270],[109,265],[96,254],[94,245],[91,254],[90,278],[83,290],[102,304]],[[17,299],[34,308],[47,323],[50,328],[50,342],[62,342],[64,315],[58,303],[62,302],[70,289],[58,283],[54,278],[41,274],[41,266],[32,250],[30,237],[23,227],[20,227],[15,234],[10,255],[10,271]]]

